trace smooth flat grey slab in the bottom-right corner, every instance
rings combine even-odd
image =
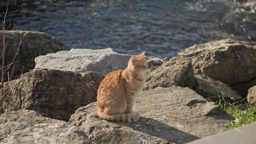
[[[244,125],[216,135],[208,136],[205,139],[196,140],[188,144],[234,144],[234,143],[255,143],[256,123]]]

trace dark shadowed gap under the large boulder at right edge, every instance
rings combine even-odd
[[[231,87],[238,92],[243,98],[246,98],[248,94],[248,89],[256,85],[256,77],[249,81],[235,83]]]

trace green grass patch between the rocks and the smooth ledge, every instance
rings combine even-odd
[[[213,101],[212,98],[208,98],[208,100]],[[228,103],[223,97],[219,97],[219,101],[217,101],[216,104],[235,118],[235,120],[228,125],[229,129],[256,122],[256,107],[247,105],[247,110],[241,110],[235,105],[236,103]]]

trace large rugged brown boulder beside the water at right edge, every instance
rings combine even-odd
[[[256,77],[256,43],[223,39],[194,45],[178,53],[191,58],[195,74],[228,85]]]

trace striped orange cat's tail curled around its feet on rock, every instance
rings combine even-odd
[[[103,119],[108,119],[113,122],[137,122],[139,119],[139,111],[133,113],[118,113],[114,115],[105,115],[101,111],[97,111],[97,116]]]

